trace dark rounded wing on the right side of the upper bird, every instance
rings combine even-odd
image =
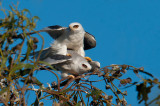
[[[92,49],[96,47],[95,37],[88,32],[84,35],[84,50]]]

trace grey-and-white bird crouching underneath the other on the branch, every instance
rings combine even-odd
[[[75,51],[67,50],[67,53],[71,54],[71,56],[60,55],[51,52],[52,51],[51,47],[44,49],[41,52],[39,60],[47,62],[51,64],[56,70],[61,71],[62,77],[67,77],[69,74],[71,75],[83,74],[89,72],[92,69],[90,63]],[[36,58],[38,57],[38,54],[39,51],[35,52]]]

